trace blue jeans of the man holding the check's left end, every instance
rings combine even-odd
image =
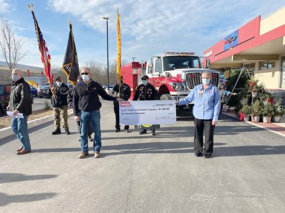
[[[100,129],[100,111],[81,111],[80,123],[81,123],[81,151],[88,152],[88,126],[92,123],[94,128],[95,137],[93,140],[93,147],[95,152],[99,152],[101,148],[101,129]],[[90,122],[91,121],[91,122]]]

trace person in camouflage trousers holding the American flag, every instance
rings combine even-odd
[[[61,134],[60,130],[60,115],[62,121],[62,127],[65,130],[66,135],[70,135],[68,123],[67,123],[67,96],[69,88],[66,84],[62,83],[62,77],[58,76],[55,80],[56,86],[52,83],[49,84],[49,94],[51,96],[51,106],[53,109],[53,123],[55,130],[51,133],[52,135]]]

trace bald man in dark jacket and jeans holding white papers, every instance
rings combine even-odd
[[[16,149],[16,154],[22,155],[31,151],[27,120],[29,115],[32,114],[32,98],[30,85],[24,80],[21,70],[14,69],[12,71],[12,79],[13,82],[7,111],[12,111],[11,128],[22,143],[22,146]],[[23,118],[17,117],[18,113],[22,113]]]

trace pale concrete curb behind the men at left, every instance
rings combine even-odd
[[[67,110],[67,114],[70,115],[73,113],[73,109],[68,109]],[[28,129],[30,128],[33,128],[35,126],[39,126],[39,125],[42,125],[44,123],[47,123],[49,121],[52,121],[53,120],[53,114],[52,115],[47,115],[46,117],[42,117],[42,118],[38,118],[38,119],[35,119],[35,120],[31,120],[31,121],[28,121]],[[11,129],[11,127],[6,127],[6,128],[3,128],[0,130],[0,139],[1,138],[6,138],[10,135],[13,135],[13,131]]]

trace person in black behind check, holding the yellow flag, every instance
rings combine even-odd
[[[119,83],[121,84],[121,87],[119,87]],[[124,83],[124,78],[123,76],[121,76],[121,81],[117,82],[114,87],[113,90],[117,93],[117,97],[123,99],[124,101],[128,101],[129,98],[131,97],[131,87]],[[120,95],[120,96],[119,96]],[[115,116],[116,116],[116,125],[115,128],[116,130],[114,132],[120,132],[120,116],[119,116],[119,103],[117,101],[114,101],[114,112],[115,112]],[[125,131],[127,133],[129,133],[129,125],[125,125]]]

